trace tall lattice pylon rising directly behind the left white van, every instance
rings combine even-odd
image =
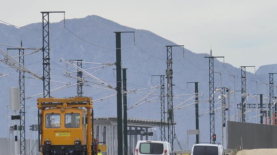
[[[167,70],[166,70],[166,78],[167,78],[167,140],[171,145],[171,149],[173,148],[173,140],[174,140],[174,115],[173,115],[173,92],[172,92],[172,78],[173,78],[173,70],[172,70],[172,47],[174,46],[183,46],[184,45],[167,45]]]

